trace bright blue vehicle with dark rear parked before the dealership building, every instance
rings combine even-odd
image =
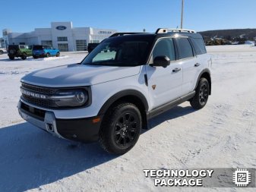
[[[33,46],[32,52],[33,58],[49,58],[50,56],[58,57],[60,55],[59,50],[53,49],[52,46]]]

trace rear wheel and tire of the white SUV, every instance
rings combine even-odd
[[[194,97],[190,100],[190,104],[194,109],[202,109],[208,100],[209,83],[206,78],[201,78],[196,88]]]

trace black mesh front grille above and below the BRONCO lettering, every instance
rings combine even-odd
[[[24,89],[24,90],[31,91],[33,93],[41,93],[41,94],[49,95],[49,96],[54,95],[58,91],[55,88],[34,86],[34,85],[27,84],[27,83],[22,83],[21,88]],[[53,102],[50,99],[41,99],[41,98],[36,98],[36,97],[33,97],[33,96],[27,96],[24,93],[22,93],[21,99],[23,99],[25,102],[29,102],[33,105],[41,106],[41,107],[44,107],[44,108],[49,108],[50,109],[50,108],[57,108],[58,107],[58,105],[56,105],[55,102]]]

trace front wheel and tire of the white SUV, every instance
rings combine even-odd
[[[141,112],[137,106],[132,103],[119,103],[103,118],[100,145],[108,153],[127,153],[137,143],[141,126]]]

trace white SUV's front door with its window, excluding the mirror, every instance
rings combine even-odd
[[[153,108],[182,96],[182,65],[176,61],[173,38],[158,39],[150,62],[156,56],[167,56],[171,64],[166,68],[146,66],[148,91]]]

